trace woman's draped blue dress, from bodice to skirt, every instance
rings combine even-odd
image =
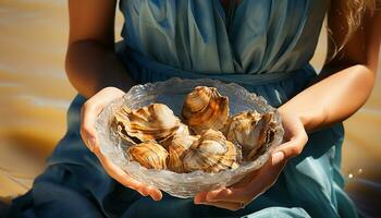
[[[220,0],[121,0],[118,55],[137,83],[173,76],[235,82],[279,107],[317,76],[309,65],[329,0],[242,0],[226,16]],[[232,19],[228,19],[232,17]],[[79,136],[76,96],[67,132],[33,189],[16,198],[26,217],[357,217],[340,172],[342,123],[309,134],[276,183],[244,209],[153,202],[111,179]]]

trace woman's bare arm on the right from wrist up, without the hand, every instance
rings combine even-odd
[[[333,29],[337,44],[344,39],[343,22],[345,19],[339,13],[329,14],[329,27]],[[372,19],[368,14],[343,50],[324,65],[318,81],[281,106],[280,111],[298,114],[307,132],[343,121],[355,113],[373,87],[380,26],[380,11]]]

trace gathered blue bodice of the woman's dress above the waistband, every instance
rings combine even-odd
[[[228,31],[221,0],[122,0],[122,36],[135,51],[186,71],[292,71],[312,57],[328,3],[241,0]]]

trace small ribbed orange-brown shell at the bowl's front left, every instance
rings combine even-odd
[[[127,148],[132,160],[139,162],[147,169],[162,170],[167,168],[168,152],[155,142],[145,142]]]

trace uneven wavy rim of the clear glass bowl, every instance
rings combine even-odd
[[[127,93],[125,93],[121,97],[122,100],[121,100],[121,98],[116,98],[116,99],[110,101],[107,106],[105,106],[105,109],[101,111],[101,113],[97,118],[97,121],[96,121],[96,123],[98,123],[97,126],[99,126],[99,122],[101,122],[100,120],[102,118],[102,113],[105,113],[107,110],[110,110],[112,107],[115,108],[115,107],[123,106],[125,100],[127,100],[127,96],[133,96],[134,93],[136,93],[136,92],[142,92],[142,90],[149,92],[149,90],[151,90],[153,88],[163,87],[167,84],[174,84],[174,83],[177,83],[177,84],[179,83],[188,83],[188,84],[193,84],[193,85],[195,85],[195,84],[216,84],[214,86],[223,86],[223,87],[225,87],[225,89],[234,89],[236,93],[243,94],[242,96],[247,96],[249,98],[248,100],[256,101],[256,104],[259,105],[258,107],[266,108],[267,111],[265,111],[265,112],[269,112],[269,111],[274,112],[275,113],[274,119],[276,120],[276,122],[280,122],[279,126],[276,128],[278,129],[276,131],[280,131],[279,134],[281,135],[281,138],[283,138],[283,136],[284,136],[284,130],[283,130],[283,126],[282,126],[282,120],[281,120],[281,116],[280,116],[279,111],[274,107],[269,105],[267,102],[267,100],[262,96],[259,96],[259,95],[257,95],[255,93],[250,93],[246,88],[244,88],[243,86],[241,86],[241,85],[238,85],[236,83],[224,83],[224,82],[221,82],[221,81],[214,80],[214,78],[196,78],[196,80],[192,80],[192,78],[172,77],[172,78],[167,80],[167,81],[160,81],[160,82],[134,85],[134,86],[132,86],[130,88],[130,90]],[[111,117],[112,116],[110,116],[108,119],[110,120]],[[112,128],[108,128],[108,129],[109,129],[109,131],[112,132],[112,130],[111,130]],[[98,131],[100,131],[99,128],[97,128],[97,133],[98,133]],[[280,140],[278,140],[278,141],[280,141]],[[119,144],[121,142],[119,142]],[[262,167],[265,165],[265,162],[268,160],[268,158],[270,157],[270,153],[280,144],[281,144],[281,142],[272,142],[270,144],[269,148],[267,148],[267,150],[263,154],[259,155],[257,157],[257,159],[255,159],[255,160],[253,160],[253,161],[250,161],[248,164],[245,164],[245,165],[239,165],[239,167],[236,168],[236,169],[226,169],[226,170],[222,170],[222,171],[219,171],[219,172],[216,172],[216,173],[204,172],[201,170],[196,170],[196,171],[188,172],[188,173],[179,173],[179,172],[174,172],[174,171],[171,171],[171,170],[168,170],[168,169],[163,169],[163,170],[147,169],[147,168],[140,166],[136,161],[131,161],[127,157],[126,157],[126,160],[127,160],[127,165],[130,165],[133,168],[137,168],[142,173],[146,174],[147,177],[150,177],[150,175],[158,177],[158,175],[164,173],[164,174],[167,174],[165,177],[174,178],[175,180],[182,180],[182,181],[184,181],[184,184],[187,184],[187,182],[189,182],[189,183],[194,182],[193,180],[188,180],[188,178],[194,178],[194,180],[196,180],[199,177],[202,177],[202,178],[204,177],[207,177],[207,178],[230,178],[230,177],[234,177],[234,174],[243,173],[243,171],[247,171],[245,173],[245,174],[247,174],[247,173],[249,173],[249,172],[251,172],[254,170],[257,170],[260,167]],[[106,157],[110,158],[110,154],[108,154],[108,150],[105,149],[105,145],[99,145],[99,146],[100,146],[100,152],[102,153],[102,155],[105,155]],[[118,146],[118,145],[112,145],[112,146]],[[110,160],[115,166],[121,168],[124,172],[126,172],[128,175],[131,175],[132,178],[140,181],[140,179],[138,177],[135,177],[135,174],[133,174],[133,173],[128,173],[128,171],[125,170],[118,162],[115,162],[113,160],[113,158],[110,158]],[[259,167],[253,168],[253,166],[255,164],[258,164],[259,161],[260,161]],[[253,168],[253,170],[248,170],[250,167]],[[228,174],[233,174],[233,175],[228,177]],[[152,184],[152,183],[150,185],[157,186],[157,184]],[[163,190],[163,191],[165,191],[165,190]]]

